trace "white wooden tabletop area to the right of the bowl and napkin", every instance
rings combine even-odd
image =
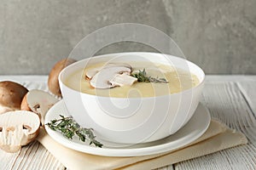
[[[177,163],[175,169],[256,169],[256,79],[216,82],[208,78],[201,102],[212,117],[246,134],[248,144]]]

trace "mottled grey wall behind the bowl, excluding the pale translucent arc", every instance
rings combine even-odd
[[[166,32],[207,74],[256,74],[255,0],[3,0],[0,75],[48,74],[86,35],[135,22]],[[119,43],[98,54],[147,51]]]

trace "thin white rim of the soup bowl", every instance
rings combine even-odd
[[[155,53],[155,52],[121,52],[121,53],[112,53],[112,54],[101,54],[101,55],[96,55],[96,56],[92,56],[90,58],[85,58],[85,59],[80,59],[76,62],[74,62],[73,64],[71,65],[67,65],[66,67],[64,67],[59,76],[58,76],[58,82],[59,82],[59,86],[65,86],[66,88],[76,92],[76,93],[79,93],[79,94],[83,94],[83,95],[88,95],[90,97],[92,96],[96,96],[98,98],[102,98],[102,99],[127,99],[128,97],[125,97],[125,98],[120,98],[120,97],[112,97],[112,96],[100,96],[100,95],[94,95],[94,94],[86,94],[86,93],[83,93],[83,92],[80,92],[78,90],[75,90],[73,88],[69,88],[63,81],[61,81],[61,77],[62,75],[64,74],[65,71],[67,71],[68,68],[72,67],[73,65],[78,65],[79,63],[82,63],[86,60],[90,60],[91,58],[93,59],[99,59],[99,58],[103,58],[103,57],[108,57],[108,56],[111,56],[111,55],[119,55],[119,54],[162,54],[162,53]],[[205,72],[201,69],[201,67],[199,65],[195,65],[195,63],[193,63],[192,61],[189,61],[188,59],[183,59],[182,57],[177,57],[177,56],[174,56],[174,55],[171,55],[171,54],[163,54],[165,56],[168,56],[168,57],[172,57],[174,59],[182,59],[184,61],[187,61],[189,62],[190,65],[194,65],[195,67],[197,67],[197,69],[199,69],[199,71],[201,71],[202,73],[202,78],[201,78],[201,81],[200,83],[198,83],[195,87],[192,87],[192,88],[188,88],[188,89],[185,89],[181,92],[178,92],[178,93],[174,93],[174,94],[165,94],[165,95],[160,95],[160,96],[152,96],[152,97],[132,97],[132,98],[128,98],[128,99],[154,99],[154,98],[166,98],[166,97],[170,97],[170,96],[175,96],[175,95],[179,95],[179,94],[183,94],[183,93],[186,93],[186,92],[189,92],[189,91],[193,91],[194,89],[196,88],[199,88],[201,87],[205,80],[206,80],[206,75],[205,75]],[[195,75],[197,76],[197,75]],[[62,89],[61,89],[62,90]]]

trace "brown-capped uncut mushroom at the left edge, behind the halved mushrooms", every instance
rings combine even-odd
[[[28,90],[16,82],[0,82],[0,114],[20,110],[20,104]]]

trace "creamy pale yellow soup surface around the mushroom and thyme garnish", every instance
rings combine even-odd
[[[193,88],[199,84],[199,79],[189,71],[184,71],[171,65],[155,64],[150,62],[125,62],[132,66],[132,71],[145,71],[148,77],[165,78],[165,82],[135,82],[131,86],[99,89],[90,86],[90,80],[85,78],[85,73],[90,69],[101,67],[105,63],[89,65],[84,69],[74,71],[67,79],[65,84],[69,88],[85,94],[92,94],[106,97],[117,98],[139,98],[154,97],[166,94],[175,94],[183,90]]]

